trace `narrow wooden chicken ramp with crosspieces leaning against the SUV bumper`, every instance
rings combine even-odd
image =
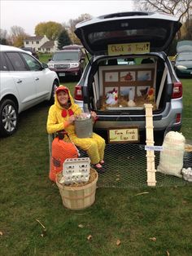
[[[152,104],[144,104],[146,108],[146,146],[154,147],[153,135],[153,113]],[[155,186],[155,153],[154,150],[146,150],[146,172],[147,172],[147,185]]]

